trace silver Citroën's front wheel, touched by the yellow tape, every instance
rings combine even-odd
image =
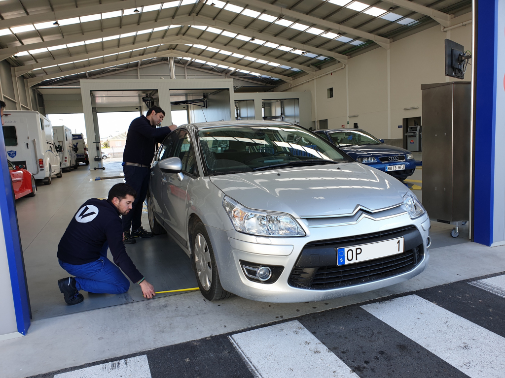
[[[201,294],[210,301],[229,298],[232,294],[221,286],[214,250],[205,225],[196,223],[191,235],[191,262]]]

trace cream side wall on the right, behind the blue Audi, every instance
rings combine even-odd
[[[468,13],[453,19],[452,24],[471,18],[472,14]],[[434,26],[392,42],[389,50],[377,47],[351,57],[343,70],[289,89],[286,84],[276,91],[310,91],[312,120],[328,119],[329,129],[340,128],[342,125],[347,127],[347,121],[349,127],[358,122],[360,128],[377,138],[400,139],[402,129],[398,129],[398,125],[402,124],[403,118],[418,117],[422,114],[421,84],[458,80],[445,77],[445,38],[471,50],[472,25],[447,32],[442,32],[440,25]],[[340,65],[325,68],[316,75],[325,74],[338,67]],[[295,80],[291,86],[308,79],[308,76],[302,77]],[[468,70],[465,80],[470,79]],[[333,98],[329,99],[327,89],[330,87],[333,87]],[[403,110],[415,106],[418,108]],[[357,117],[348,117],[356,114]]]

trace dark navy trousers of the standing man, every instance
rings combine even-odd
[[[150,169],[148,167],[125,165],[123,166],[123,172],[125,173],[126,183],[137,192],[132,209],[128,214],[123,215],[123,232],[129,231],[130,228],[135,231],[142,226],[142,205],[147,195]]]

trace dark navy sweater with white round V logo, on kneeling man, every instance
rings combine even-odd
[[[116,264],[132,282],[142,275],[126,253],[123,225],[116,207],[108,200],[92,198],[75,213],[58,244],[58,259],[72,264],[92,263],[100,258],[100,250],[109,243]]]

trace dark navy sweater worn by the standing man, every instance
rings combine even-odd
[[[150,165],[156,152],[155,143],[163,142],[164,137],[170,133],[171,130],[167,127],[151,126],[149,120],[143,115],[135,118],[128,128],[123,161]]]

